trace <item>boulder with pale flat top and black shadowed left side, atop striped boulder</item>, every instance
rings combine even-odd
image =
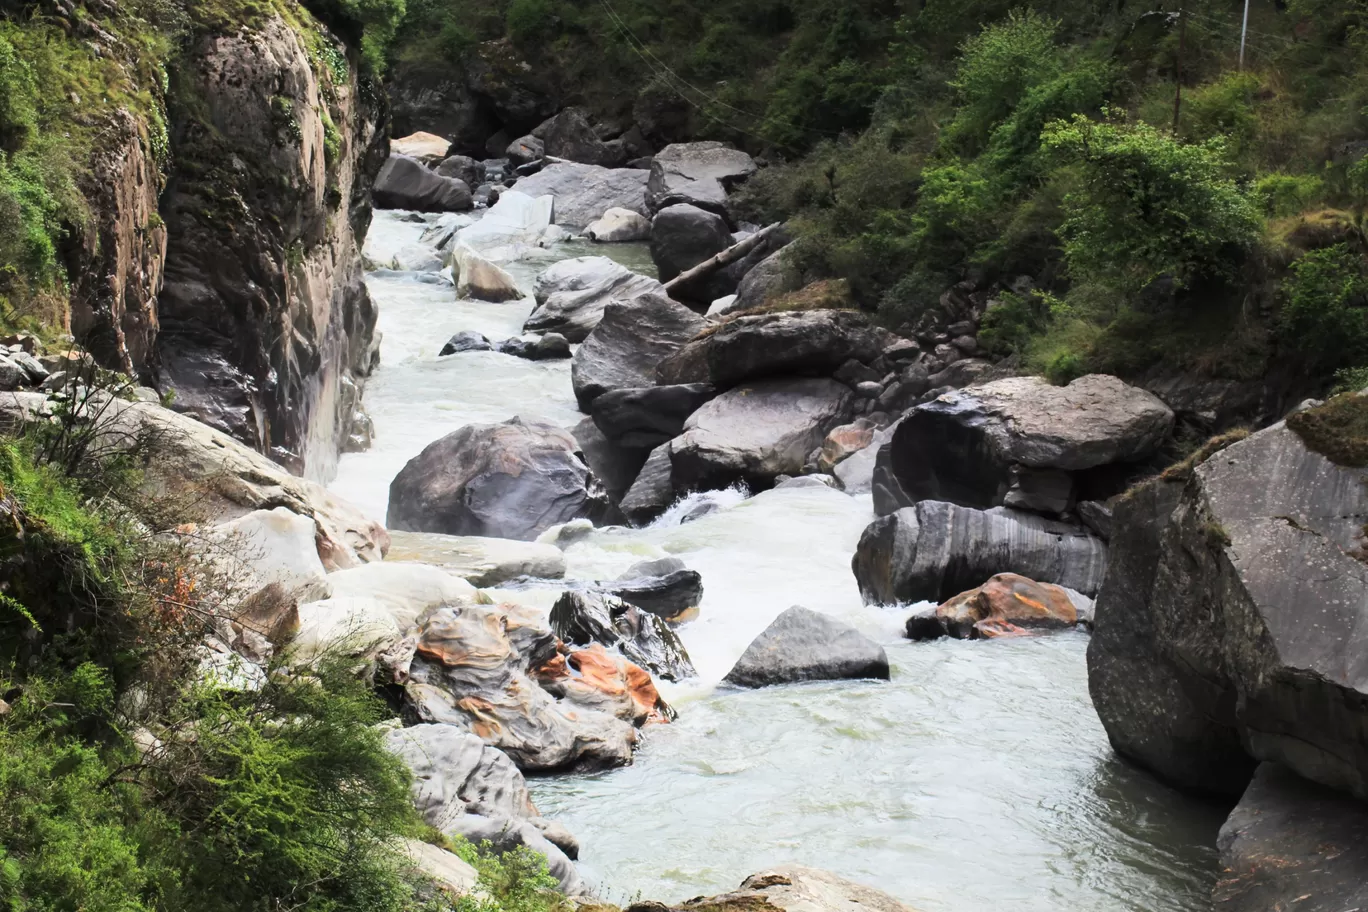
[[[889,466],[911,503],[1057,514],[1073,506],[1074,473],[1145,459],[1172,425],[1157,397],[1112,376],[1067,387],[1008,377],[914,407],[889,444]],[[1124,480],[1116,474],[1118,487]]]

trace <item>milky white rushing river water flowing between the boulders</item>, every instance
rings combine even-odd
[[[376,213],[373,258],[423,224]],[[527,287],[557,258],[640,246],[558,245],[510,268]],[[342,458],[332,488],[384,517],[390,480],[430,442],[514,414],[573,425],[569,362],[494,353],[438,358],[476,330],[517,335],[531,302],[458,302],[431,275],[372,275],[382,364],[365,392],[375,447]],[[611,901],[733,889],[798,861],[878,886],[923,912],[1196,912],[1209,908],[1222,808],[1118,762],[1088,697],[1086,636],[912,644],[907,610],[860,603],[850,559],[873,517],[830,489],[705,495],[721,509],[640,531],[599,529],[566,551],[569,574],[609,578],[676,555],[703,574],[680,629],[699,680],[665,685],[680,711],[636,763],[534,781],[538,807],[583,844],[580,868]],[[549,604],[547,592],[510,598]],[[884,643],[891,682],[741,692],[718,681],[784,608],[804,604]]]

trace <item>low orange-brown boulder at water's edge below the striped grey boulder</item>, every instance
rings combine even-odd
[[[914,617],[907,623],[907,636],[912,640],[941,636],[979,640],[1071,628],[1078,621],[1074,600],[1063,588],[1016,573],[999,573],[984,585],[945,602],[929,618]]]

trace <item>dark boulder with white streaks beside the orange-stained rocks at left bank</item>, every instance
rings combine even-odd
[[[666,681],[698,674],[663,618],[598,592],[565,592],[551,608],[551,630],[570,645],[598,643]]]

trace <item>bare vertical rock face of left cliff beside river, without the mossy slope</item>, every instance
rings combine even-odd
[[[345,48],[309,44],[271,16],[178,68],[160,332],[129,357],[178,409],[327,477],[376,357],[358,249],[386,141]]]

